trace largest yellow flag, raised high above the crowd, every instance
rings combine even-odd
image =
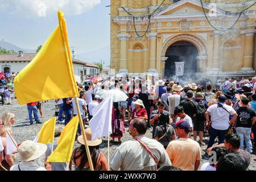
[[[14,79],[20,105],[56,98],[79,97],[64,15],[35,58]]]

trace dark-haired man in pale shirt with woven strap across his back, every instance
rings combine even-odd
[[[145,136],[147,123],[142,118],[134,118],[129,125],[132,140],[117,147],[110,159],[112,171],[156,171],[158,167],[171,166],[168,154],[161,143]],[[143,146],[144,145],[144,146]],[[148,152],[144,147],[148,147]],[[154,157],[152,156],[154,155]]]

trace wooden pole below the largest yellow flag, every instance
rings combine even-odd
[[[79,117],[79,123],[80,123],[81,131],[82,131],[82,139],[84,139],[84,144],[85,144],[86,154],[87,154],[87,158],[88,158],[88,162],[89,162],[89,166],[90,166],[90,171],[94,171],[92,158],[90,156],[90,150],[89,150],[89,146],[87,144],[87,139],[86,139],[86,135],[85,135],[84,123],[82,122],[81,112],[80,112],[80,108],[79,108],[79,101],[78,101],[77,97],[75,97],[75,101],[76,101],[77,115]]]

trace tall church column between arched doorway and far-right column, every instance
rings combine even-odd
[[[223,32],[214,31],[214,38],[213,38],[213,63],[212,63],[212,71],[213,72],[220,71],[218,49],[220,48],[220,35],[221,34],[223,34]]]

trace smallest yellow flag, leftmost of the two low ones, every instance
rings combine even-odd
[[[44,123],[42,129],[38,133],[38,143],[53,143],[55,134],[56,118],[53,117]]]

